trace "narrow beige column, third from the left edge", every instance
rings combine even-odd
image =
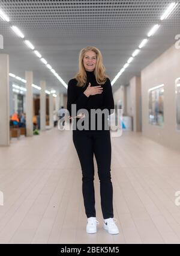
[[[41,131],[46,130],[46,81],[40,82],[40,129]]]

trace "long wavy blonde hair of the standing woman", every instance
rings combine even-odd
[[[85,57],[86,52],[93,51],[96,54],[97,63],[95,65],[94,75],[98,84],[106,83],[107,75],[105,73],[105,67],[103,65],[103,57],[99,49],[94,46],[87,46],[83,48],[79,53],[79,72],[74,76],[77,80],[77,86],[83,87],[86,83],[87,76],[86,70],[83,64],[83,58]]]

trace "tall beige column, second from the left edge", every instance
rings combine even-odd
[[[33,92],[32,92],[32,83],[33,83],[33,72],[26,71],[26,135],[28,137],[33,136]]]

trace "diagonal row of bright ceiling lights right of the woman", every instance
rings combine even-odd
[[[172,2],[169,5],[169,7],[167,7],[166,11],[164,11],[164,14],[161,16],[161,20],[167,19],[167,17],[169,17],[170,13],[172,13],[172,11],[175,10],[177,5],[178,5],[178,2]],[[155,34],[155,32],[158,30],[158,28],[160,28],[160,24],[154,25],[154,27],[152,27],[151,30],[149,31],[149,33],[147,34],[147,37],[149,38],[149,37],[153,36]],[[125,65],[122,67],[122,69],[118,72],[118,74],[113,79],[112,86],[118,80],[119,76],[122,75],[122,73],[125,71],[125,69],[127,69],[127,67],[130,65],[130,63],[134,60],[134,57],[136,57],[137,54],[139,54],[140,49],[142,49],[146,45],[146,43],[148,42],[148,38],[142,40],[142,42],[139,45],[139,48],[133,52],[131,57],[128,59],[127,63],[125,63]]]

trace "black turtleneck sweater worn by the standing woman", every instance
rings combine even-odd
[[[100,109],[109,110],[109,114],[113,113],[114,109],[114,100],[113,100],[113,94],[112,94],[112,86],[110,84],[109,78],[107,78],[106,83],[101,85],[103,87],[103,92],[97,95],[90,95],[87,97],[85,95],[85,90],[88,87],[88,84],[91,83],[91,86],[100,86],[100,84],[97,83],[94,75],[94,71],[86,71],[87,75],[87,81],[84,87],[78,87],[77,86],[77,80],[71,79],[68,82],[68,90],[67,90],[67,110],[70,113],[71,116],[71,104],[76,104],[76,116],[77,111],[81,108],[85,108],[88,110],[89,113],[89,130],[91,130],[91,109]],[[107,122],[107,117],[103,115],[102,118],[102,130],[104,130],[104,119]],[[76,118],[76,122],[79,119]],[[78,129],[77,129],[78,130]],[[97,130],[97,125],[95,126],[95,130]]]

